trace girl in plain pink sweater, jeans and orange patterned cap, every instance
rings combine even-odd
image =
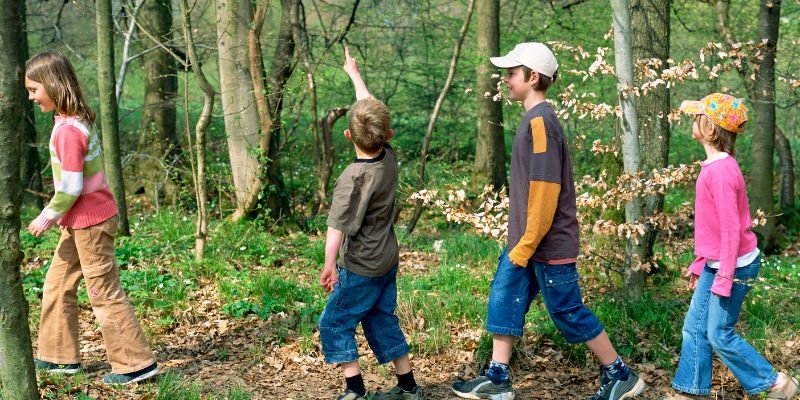
[[[751,395],[792,399],[797,379],[772,365],[734,330],[747,292],[760,267],[756,236],[742,171],[733,158],[737,133],[747,107],[730,95],[713,93],[684,101],[692,116],[692,137],[706,151],[697,178],[694,243],[697,258],[689,267],[692,302],[683,323],[683,343],[672,387],[673,398],[706,398],[711,393],[714,353]]]

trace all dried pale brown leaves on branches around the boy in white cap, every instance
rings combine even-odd
[[[606,34],[610,40],[612,32]],[[800,44],[800,41],[793,41]],[[564,42],[548,42],[556,53],[569,54],[574,60],[573,65],[583,62],[591,63],[585,69],[567,69],[565,73],[583,78],[597,79],[603,76],[614,76],[614,66],[607,61],[613,52],[609,47],[598,47],[593,53],[581,46],[571,46]],[[696,82],[700,80],[715,80],[720,74],[728,71],[758,69],[764,59],[766,42],[746,42],[726,45],[709,42],[697,53],[697,59],[684,59],[676,62],[673,59],[662,61],[660,59],[641,59],[635,62],[637,84],[623,88],[624,96],[643,96],[648,92],[665,87],[670,89],[675,85]],[[494,76],[497,77],[497,76]],[[754,77],[751,76],[751,79]],[[791,77],[778,77],[778,81],[788,84],[792,90],[800,88],[800,80]],[[497,94],[484,93],[485,97],[492,96],[495,101],[510,101],[504,97],[502,81],[498,82]],[[559,118],[567,120],[576,119],[603,120],[609,116],[618,117],[620,107],[598,102],[598,96],[589,91],[579,91],[576,84],[567,85],[552,99],[548,99],[556,110]],[[670,123],[681,118],[679,110],[672,110],[666,115]],[[578,135],[574,146],[583,148],[587,143],[586,135]],[[589,149],[592,154],[601,157],[610,153],[619,156],[620,149],[608,145],[601,140],[594,140]],[[633,223],[619,222],[619,214],[624,210],[627,202],[635,198],[645,198],[652,195],[664,195],[667,191],[676,188],[691,187],[697,179],[700,164],[670,166],[660,170],[642,171],[632,175],[623,173],[613,179],[609,178],[606,170],[602,170],[596,177],[584,176],[576,182],[578,219],[581,226],[582,262],[595,265],[605,271],[620,271],[626,257],[626,243],[628,240],[638,242],[639,238],[648,231],[657,235],[659,250],[647,260],[634,257],[634,269],[651,270],[661,264],[662,259],[677,257],[686,254],[692,249],[693,204],[686,202],[678,206],[667,207],[663,212],[650,215]],[[482,193],[470,195],[467,184],[454,186],[443,191],[422,190],[413,193],[409,200],[420,199],[429,207],[440,211],[449,222],[467,224],[479,234],[489,236],[496,240],[505,240],[508,227],[508,198],[505,190],[496,191],[491,186],[484,188]],[[766,216],[757,210],[753,225],[763,225]]]

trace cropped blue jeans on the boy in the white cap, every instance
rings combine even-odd
[[[603,332],[600,321],[581,297],[575,263],[550,265],[531,260],[527,267],[511,263],[508,249],[497,264],[489,294],[486,330],[499,335],[522,336],[525,314],[542,293],[550,319],[569,343],[583,343]]]

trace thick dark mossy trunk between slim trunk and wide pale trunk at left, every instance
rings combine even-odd
[[[172,39],[172,4],[170,0],[145,0],[139,9],[140,24],[161,43]],[[142,37],[144,48],[158,46],[148,36]],[[165,174],[180,158],[181,148],[175,123],[175,102],[178,96],[177,64],[161,48],[142,56],[145,72],[144,109],[139,136],[139,152],[147,157],[137,159],[132,174],[139,182],[135,189],[145,188],[148,197],[158,203],[162,196],[173,201],[176,187]],[[131,185],[129,185],[130,187]]]

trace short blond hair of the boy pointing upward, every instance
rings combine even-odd
[[[386,143],[392,117],[382,101],[361,99],[350,110],[350,136],[361,150],[375,152]]]

